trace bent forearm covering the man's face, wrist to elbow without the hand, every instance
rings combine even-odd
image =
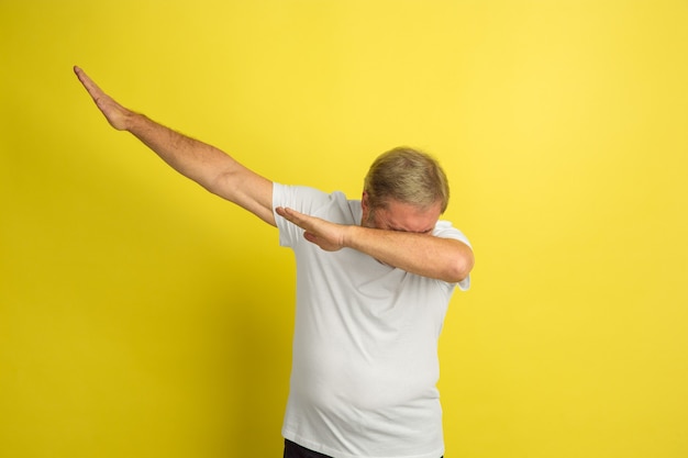
[[[473,269],[473,250],[466,244],[426,234],[349,226],[344,246],[423,277],[458,282]]]

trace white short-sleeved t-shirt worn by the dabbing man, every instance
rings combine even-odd
[[[274,185],[273,206],[359,225],[360,201]],[[384,265],[354,249],[324,252],[275,215],[297,259],[293,361],[285,438],[335,458],[444,454],[437,339],[454,283]],[[451,223],[433,235],[468,243]],[[460,289],[468,289],[469,279]]]

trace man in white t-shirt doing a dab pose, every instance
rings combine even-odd
[[[465,236],[430,156],[378,157],[360,201],[267,180],[231,156],[134,113],[75,72],[116,130],[279,230],[297,259],[285,457],[440,458],[437,339],[454,288],[469,287]]]

